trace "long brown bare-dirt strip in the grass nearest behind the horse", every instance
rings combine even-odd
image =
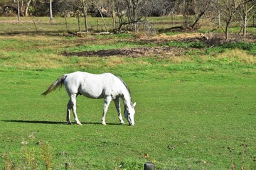
[[[83,52],[63,52],[65,56],[78,57],[166,57],[174,55],[173,47],[134,47],[122,48],[114,50],[98,50],[98,51],[83,51]]]

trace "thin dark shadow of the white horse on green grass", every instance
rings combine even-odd
[[[57,121],[43,121],[43,120],[1,120],[1,122],[9,123],[33,123],[33,124],[48,124],[48,125],[69,125],[66,122],[57,122]],[[73,123],[75,125],[75,123]],[[92,122],[83,122],[82,125],[102,125],[102,123],[92,123]],[[120,123],[107,123],[107,125],[121,125]]]

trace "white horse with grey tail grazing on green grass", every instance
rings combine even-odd
[[[73,72],[70,74],[64,74],[53,84],[51,84],[42,95],[46,96],[51,91],[57,89],[58,86],[61,87],[63,84],[68,92],[68,96],[70,96],[67,108],[68,124],[71,124],[70,111],[72,110],[75,117],[75,122],[78,125],[81,125],[76,113],[76,97],[78,95],[83,95],[88,98],[104,98],[102,125],[106,125],[105,117],[107,108],[112,100],[117,108],[120,123],[124,124],[120,108],[120,98],[122,98],[122,101],[124,102],[124,117],[127,118],[129,125],[134,125],[134,107],[136,103],[132,103],[130,91],[124,81],[114,76],[114,74],[90,74],[87,72]]]

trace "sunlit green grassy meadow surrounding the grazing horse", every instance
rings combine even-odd
[[[0,18],[0,169],[256,169],[255,40],[74,36],[63,18],[34,19],[38,31]],[[66,125],[65,88],[41,94],[78,70],[122,77],[135,125],[119,125],[113,102],[101,125],[103,101],[82,96],[83,125]]]

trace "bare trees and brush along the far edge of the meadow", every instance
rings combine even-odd
[[[146,17],[171,16],[169,18],[171,27],[161,31],[168,32],[177,28],[195,30],[207,25],[208,33],[218,29],[223,30],[226,41],[229,39],[229,29],[234,22],[240,27],[239,33],[242,38],[246,38],[247,28],[255,26],[255,11],[255,0],[16,0],[14,2],[4,0],[0,2],[0,16],[17,15],[19,22],[21,16],[49,16],[50,21],[53,21],[53,16],[63,16],[68,30],[66,18],[71,16],[78,20],[78,32],[88,33],[92,26],[88,23],[88,16],[97,16],[101,17],[102,31],[106,33],[120,33],[127,30],[154,33],[154,26]],[[178,15],[181,16],[182,22],[174,19]],[[107,28],[105,17],[111,20],[110,28]],[[85,26],[83,29],[80,28],[82,21]]]

